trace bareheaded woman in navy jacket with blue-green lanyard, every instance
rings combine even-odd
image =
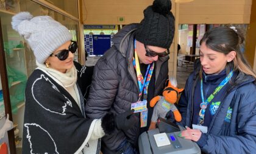
[[[235,27],[208,30],[200,44],[201,66],[188,77],[179,100],[180,137],[204,153],[256,152],[256,75],[240,51]]]

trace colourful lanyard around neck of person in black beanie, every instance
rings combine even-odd
[[[140,94],[139,94],[139,99],[138,99],[138,101],[139,101],[142,96],[143,89],[144,89],[144,95],[148,95],[148,86],[149,86],[149,82],[151,80],[152,73],[154,70],[154,62],[148,65],[146,74],[143,77],[143,75],[141,74],[141,71],[140,71],[140,63],[138,60],[136,40],[134,40],[134,52],[135,52],[135,58],[133,58],[133,66],[136,69],[138,86],[140,89]],[[145,98],[143,97],[143,99],[145,99]]]

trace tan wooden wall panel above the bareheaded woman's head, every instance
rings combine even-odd
[[[179,24],[249,24],[252,0],[194,0],[179,5]]]

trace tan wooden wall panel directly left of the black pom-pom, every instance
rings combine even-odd
[[[143,19],[143,10],[151,5],[153,0],[82,0],[84,24],[130,24],[139,23]],[[124,17],[119,22],[118,17]]]

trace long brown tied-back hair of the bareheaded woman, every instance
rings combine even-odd
[[[227,74],[229,74],[230,69],[233,69],[234,71],[252,75],[256,79],[256,74],[241,53],[240,44],[242,44],[243,41],[244,37],[239,29],[235,29],[235,27],[233,27],[233,29],[230,27],[215,27],[205,32],[204,37],[200,41],[200,45],[205,43],[209,49],[221,52],[225,55],[229,54],[231,51],[235,51],[235,58],[226,65]],[[202,74],[201,72],[202,68],[200,74]]]

